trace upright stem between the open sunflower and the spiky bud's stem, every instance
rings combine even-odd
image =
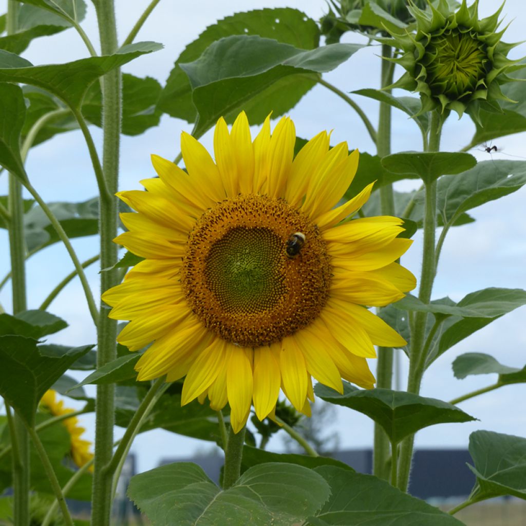
[[[382,56],[391,57],[391,47],[382,46]],[[394,68],[388,60],[382,60],[381,87],[392,84]],[[387,90],[390,92],[390,90]],[[378,156],[385,157],[391,153],[391,106],[380,103],[378,117],[378,135],[376,149]],[[380,188],[381,212],[384,216],[395,215],[395,196],[392,185]],[[376,386],[391,389],[393,376],[393,349],[378,347],[378,361],[376,369]],[[384,480],[389,479],[389,438],[386,432],[375,422],[375,442],[373,448],[373,474]]]

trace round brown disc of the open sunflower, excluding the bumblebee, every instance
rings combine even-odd
[[[305,236],[295,257],[286,252]],[[192,310],[221,338],[242,347],[280,341],[325,306],[331,266],[325,241],[283,199],[240,195],[207,210],[190,232],[181,283]]]

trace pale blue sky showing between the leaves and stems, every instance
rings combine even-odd
[[[123,39],[146,1],[117,2],[119,19],[119,36]],[[0,0],[0,12],[5,11],[5,0]],[[161,42],[165,48],[157,53],[140,57],[125,66],[124,70],[138,76],[152,76],[164,83],[173,62],[184,46],[197,37],[216,19],[237,11],[248,11],[261,7],[290,6],[302,9],[309,16],[317,19],[325,9],[325,3],[315,0],[291,0],[289,2],[264,2],[254,0],[215,2],[187,2],[184,12],[181,4],[163,0],[150,16],[138,35],[138,41],[153,40]],[[480,14],[488,16],[495,9],[491,0],[481,0]],[[505,41],[516,42],[523,39],[523,27],[526,23],[526,10],[521,0],[509,0],[504,7],[508,13],[505,18],[515,18],[505,35]],[[83,24],[88,35],[96,41],[95,18],[93,5],[88,2],[88,15]],[[359,42],[358,37],[346,36],[346,41]],[[363,49],[340,66],[335,72],[324,77],[345,92],[367,87],[378,87],[379,59],[375,55],[379,49]],[[512,50],[512,57],[526,54],[526,46],[521,45]],[[72,31],[39,39],[29,47],[24,56],[34,64],[49,62],[62,63],[87,56],[79,37]],[[407,95],[407,93],[404,93]],[[365,109],[372,122],[377,120],[377,104],[369,99],[356,97]],[[332,143],[347,140],[350,147],[374,153],[375,150],[363,125],[352,109],[341,99],[329,93],[323,87],[316,87],[291,110],[297,133],[302,137],[311,137],[321,129],[333,129]],[[157,128],[148,130],[139,137],[123,137],[120,188],[140,188],[138,181],[153,175],[149,155],[174,158],[179,152],[179,135],[181,130],[190,131],[191,126],[178,119],[163,116]],[[457,150],[467,144],[474,127],[469,117],[460,121],[452,116],[443,132],[442,149]],[[100,131],[92,127],[92,133],[100,145]],[[526,157],[524,134],[504,137],[495,141],[499,148],[509,154]],[[204,144],[211,148],[211,136],[207,134]],[[421,149],[418,128],[407,119],[405,114],[393,110],[392,151]],[[479,159],[488,154],[474,151]],[[493,158],[505,158],[495,154]],[[40,145],[33,150],[27,161],[27,170],[33,185],[46,200],[81,201],[95,196],[96,185],[90,168],[87,149],[80,133],[77,131],[64,134]],[[415,181],[402,183],[400,188],[414,188]],[[6,177],[0,177],[0,195],[6,193]],[[439,274],[433,297],[449,295],[459,300],[473,290],[490,286],[520,287],[526,285],[526,221],[524,202],[526,190],[519,190],[511,196],[494,201],[472,211],[477,221],[473,224],[452,229],[442,251]],[[97,253],[96,238],[73,240],[81,260]],[[0,253],[7,255],[8,243],[5,231],[0,231]],[[420,237],[408,254],[403,264],[414,274],[419,275],[421,257]],[[8,258],[0,259],[0,275],[8,271]],[[47,296],[54,284],[62,279],[71,269],[72,264],[60,245],[50,247],[29,260],[27,265],[29,308],[36,308]],[[98,290],[96,266],[87,272],[94,294]],[[0,302],[9,311],[11,294],[9,286],[0,292]],[[81,345],[92,343],[95,338],[90,317],[83,299],[78,281],[70,284],[49,310],[63,317],[70,327],[52,338],[52,341]],[[456,380],[452,376],[451,362],[464,352],[489,353],[506,365],[522,367],[526,363],[526,336],[522,329],[526,308],[517,309],[479,331],[468,340],[464,340],[437,360],[424,377],[422,395],[449,400],[465,392],[489,385],[494,381],[491,376],[471,377]],[[406,362],[402,360],[402,386],[406,373]],[[375,361],[371,361],[375,366]],[[526,436],[526,416],[513,408],[517,400],[524,398],[526,386],[505,387],[491,395],[485,395],[463,403],[460,407],[480,419],[467,424],[442,424],[428,428],[417,436],[417,447],[466,447],[469,433],[476,429],[495,430],[510,434]],[[73,405],[73,403],[72,403]],[[339,430],[342,448],[361,448],[372,442],[372,424],[357,412],[338,410],[339,422],[334,430]],[[88,428],[88,435],[93,437],[93,418],[83,418]],[[117,433],[121,431],[118,430]],[[175,436],[165,431],[150,431],[141,434],[132,450],[139,453],[139,469],[154,467],[159,458],[167,456],[185,456],[197,447],[206,447],[207,443]],[[279,438],[273,439],[270,448],[279,450]]]

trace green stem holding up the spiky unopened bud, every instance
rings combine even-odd
[[[429,132],[429,151],[438,151],[440,147],[440,133],[443,124],[442,115],[437,111],[431,113]],[[437,228],[437,181],[425,185],[426,196],[423,220],[423,253],[422,270],[420,275],[420,290],[418,298],[423,304],[428,304],[435,276],[435,233]],[[424,372],[424,337],[426,335],[427,312],[416,312],[411,323],[411,345],[409,350],[408,392],[418,395]],[[400,446],[398,466],[398,488],[407,490],[409,472],[413,456],[414,435],[404,439]]]

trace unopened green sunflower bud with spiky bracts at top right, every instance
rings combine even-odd
[[[419,92],[421,112],[438,108],[459,117],[467,111],[478,122],[480,109],[500,112],[499,100],[509,100],[500,89],[514,79],[508,73],[524,67],[507,54],[518,44],[501,41],[506,28],[498,29],[504,4],[493,15],[479,20],[476,0],[467,6],[462,0],[458,11],[451,11],[446,0],[428,1],[426,10],[409,0],[409,11],[416,19],[416,31],[391,32],[403,50],[393,59],[406,73],[389,88]]]

